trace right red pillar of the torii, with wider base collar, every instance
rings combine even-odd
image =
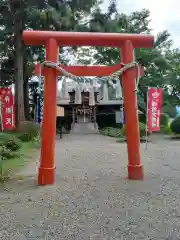
[[[121,59],[124,64],[132,63],[134,58],[134,47],[131,41],[125,41],[121,48]],[[144,179],[144,167],[141,164],[140,134],[136,79],[133,69],[125,71],[122,75],[124,91],[124,109],[126,119],[126,138],[128,149],[128,178],[132,180]]]

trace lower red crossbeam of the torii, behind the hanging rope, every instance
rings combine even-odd
[[[113,66],[65,66],[65,65],[59,65],[62,67],[65,71],[72,73],[76,76],[99,76],[99,77],[105,77],[110,76],[112,73],[118,71],[123,67],[123,64],[116,64]],[[41,75],[46,75],[47,68],[42,66],[41,69]],[[34,74],[39,75],[40,73],[40,64],[35,64]],[[144,68],[140,67],[140,75],[144,75]],[[56,70],[56,76],[63,76],[63,74]],[[137,77],[137,70],[134,68],[133,71],[133,77]]]

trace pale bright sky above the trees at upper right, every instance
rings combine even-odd
[[[103,10],[106,10],[110,0],[104,0]],[[153,33],[168,30],[172,35],[174,46],[180,47],[180,0],[117,0],[118,9],[123,13],[147,8],[151,12]]]

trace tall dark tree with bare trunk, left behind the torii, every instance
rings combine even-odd
[[[4,85],[15,82],[17,123],[25,120],[24,97],[27,95],[27,63],[31,65],[34,52],[25,47],[25,29],[66,30],[81,29],[80,21],[90,14],[96,0],[0,0],[1,78]],[[81,29],[83,30],[83,29]],[[33,49],[35,52],[41,50]],[[24,86],[26,86],[24,88]],[[24,91],[26,89],[26,91]],[[26,94],[24,94],[26,92]]]

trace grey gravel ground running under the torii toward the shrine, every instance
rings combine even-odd
[[[55,185],[37,187],[33,163],[23,180],[1,186],[0,239],[180,239],[179,146],[142,144],[145,180],[128,181],[125,144],[99,135],[57,140]]]

